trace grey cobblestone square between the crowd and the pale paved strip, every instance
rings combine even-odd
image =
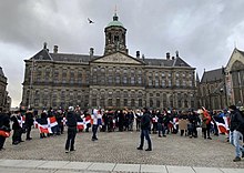
[[[47,139],[39,139],[37,129],[31,134],[31,141],[19,145],[12,145],[11,138],[7,139],[0,159],[244,167],[244,160],[237,163],[232,161],[235,156],[234,146],[225,142],[224,135],[204,140],[201,135],[190,139],[179,134],[169,134],[166,138],[151,134],[153,151],[146,152],[136,150],[140,132],[99,132],[99,141],[95,142],[91,141],[91,132],[80,132],[75,139],[77,151],[67,154],[67,131]]]

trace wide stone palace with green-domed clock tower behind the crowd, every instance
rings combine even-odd
[[[105,27],[103,55],[67,54],[44,43],[32,58],[24,60],[23,106],[82,109],[195,108],[195,68],[176,51],[165,58],[149,59],[140,51],[129,54],[126,29],[116,13]]]

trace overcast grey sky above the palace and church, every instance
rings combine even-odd
[[[226,65],[235,45],[244,50],[243,0],[0,0],[0,67],[12,106],[21,102],[23,60],[43,42],[50,51],[57,44],[61,53],[88,54],[93,47],[102,55],[115,6],[132,57],[177,50],[201,78],[204,69]]]

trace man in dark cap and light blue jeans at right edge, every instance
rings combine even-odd
[[[244,133],[244,116],[235,105],[230,105],[230,143],[235,146],[235,159],[233,162],[241,161],[241,156],[244,157],[244,147],[241,144]]]

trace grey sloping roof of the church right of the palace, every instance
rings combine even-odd
[[[215,69],[211,71],[204,71],[201,83],[212,82],[223,79],[223,69]]]

